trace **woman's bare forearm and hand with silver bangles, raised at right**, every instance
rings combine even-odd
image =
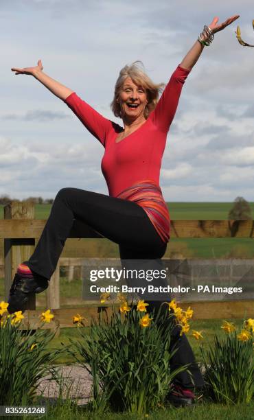
[[[224,30],[225,27],[233,23],[238,18],[239,14],[235,14],[235,16],[232,16],[231,18],[227,19],[227,21],[224,21],[223,23],[220,23],[220,25],[217,25],[219,18],[215,17],[210,23],[209,28],[211,29],[213,34],[215,34],[216,32]],[[203,36],[203,40],[206,40],[205,36]],[[192,67],[196,65],[196,62],[198,61],[198,58],[200,57],[200,54],[202,53],[203,49],[204,45],[202,45],[198,40],[196,40],[196,43],[189,50],[189,52],[187,52],[185,58],[183,58],[183,61],[181,62],[181,67],[183,67],[183,69],[191,70]]]

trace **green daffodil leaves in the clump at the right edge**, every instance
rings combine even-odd
[[[214,337],[208,349],[201,348],[207,391],[222,404],[249,403],[253,396],[253,340],[240,341],[236,332]]]

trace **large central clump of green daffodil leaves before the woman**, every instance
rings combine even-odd
[[[81,328],[82,340],[70,340],[69,351],[74,357],[80,355],[84,369],[93,375],[93,411],[154,410],[164,401],[174,376],[187,369],[170,371],[170,358],[177,349],[170,351],[174,324],[168,314],[159,311],[154,322],[142,328],[143,315],[132,309],[123,318],[113,310],[109,322],[93,323],[89,336]]]

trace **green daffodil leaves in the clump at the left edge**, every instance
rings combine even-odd
[[[37,329],[33,334],[19,325],[7,318],[0,327],[0,406],[32,404],[38,381],[54,372],[50,364],[63,352],[46,349],[54,332]]]

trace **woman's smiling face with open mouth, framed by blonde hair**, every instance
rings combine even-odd
[[[122,118],[143,119],[143,113],[148,103],[146,89],[135,84],[131,78],[126,78],[118,97]]]

